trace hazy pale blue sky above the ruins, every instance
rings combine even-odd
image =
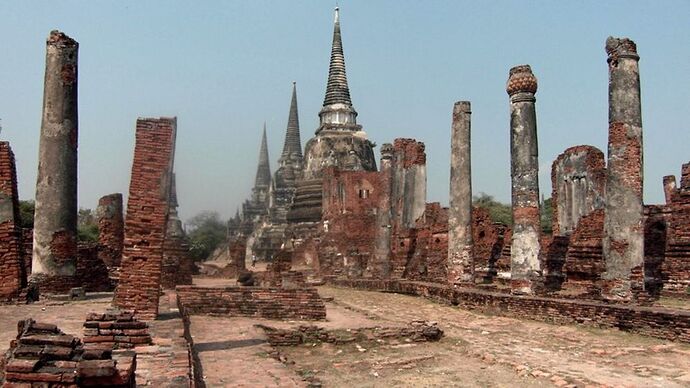
[[[137,117],[177,116],[175,171],[183,220],[223,218],[249,197],[263,123],[272,171],[292,82],[302,144],[318,126],[334,1],[0,2],[0,139],[17,160],[19,196],[33,199],[45,39],[79,47],[79,206],[127,195]],[[629,37],[640,59],[644,201],[690,161],[690,1],[340,0],[350,93],[378,146],[426,144],[427,201],[448,203],[453,104],[472,103],[473,192],[510,202],[508,71],[539,81],[540,187],[566,148],[606,153],[606,37]]]

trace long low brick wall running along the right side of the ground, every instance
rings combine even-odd
[[[334,280],[332,284],[372,291],[423,296],[469,310],[556,324],[617,328],[671,341],[690,342],[690,311],[611,305],[593,301],[515,296],[443,284],[397,280]]]

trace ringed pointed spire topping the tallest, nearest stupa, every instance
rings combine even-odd
[[[328,68],[326,97],[323,100],[323,106],[332,104],[352,105],[350,89],[347,86],[347,75],[345,74],[345,55],[343,54],[343,42],[340,39],[340,11],[338,7],[335,7],[331,64]]]

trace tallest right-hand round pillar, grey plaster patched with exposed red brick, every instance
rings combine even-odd
[[[635,43],[627,38],[609,37],[606,52],[609,153],[603,239],[606,271],[601,276],[601,292],[605,299],[630,300],[631,274],[641,273],[644,258],[640,57]],[[639,283],[634,287],[642,287],[644,282]]]

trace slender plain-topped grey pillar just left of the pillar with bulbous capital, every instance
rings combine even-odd
[[[450,140],[450,208],[448,209],[448,282],[473,283],[472,157],[469,101],[453,107]]]

